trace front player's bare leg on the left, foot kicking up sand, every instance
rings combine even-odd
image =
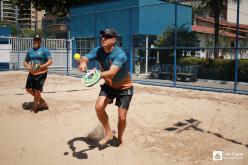
[[[109,140],[113,139],[113,132],[111,131],[108,115],[105,111],[105,108],[108,105],[109,101],[110,100],[105,96],[99,96],[96,101],[96,106],[95,106],[96,114],[106,132],[106,136],[99,141],[100,145],[104,145]]]

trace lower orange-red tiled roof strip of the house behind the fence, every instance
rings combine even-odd
[[[192,25],[192,31],[198,32],[198,33],[204,33],[204,34],[212,34],[212,35],[214,34],[214,28],[206,27],[206,26]],[[236,37],[235,33],[227,32],[224,30],[220,30],[220,35],[225,36],[225,37],[231,37],[231,38]],[[245,37],[239,35],[239,38],[245,38]]]

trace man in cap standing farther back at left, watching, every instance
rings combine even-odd
[[[26,81],[26,91],[34,97],[32,111],[37,113],[39,108],[48,108],[45,100],[41,97],[43,85],[47,77],[48,66],[52,64],[50,51],[41,46],[41,38],[36,35],[33,38],[33,48],[30,49],[23,62],[29,71]]]

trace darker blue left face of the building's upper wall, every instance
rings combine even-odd
[[[138,12],[130,9],[132,6],[138,6],[138,0],[107,0],[74,6],[70,9],[71,36],[98,37],[100,30],[109,27],[116,29],[120,36],[129,35],[130,30],[137,32]],[[128,46],[125,41],[123,44]]]

